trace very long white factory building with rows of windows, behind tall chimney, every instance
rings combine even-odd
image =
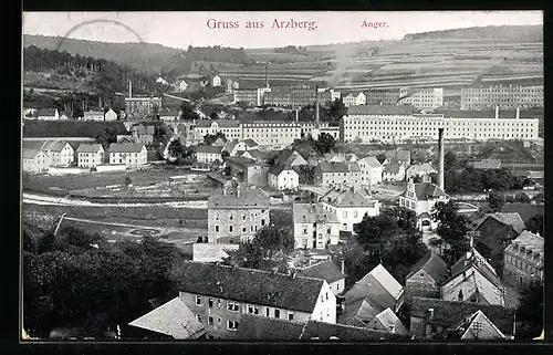
[[[341,122],[345,142],[404,142],[434,139],[437,128],[445,128],[445,139],[520,139],[539,138],[539,119],[524,112],[435,111],[414,114],[411,106],[351,106]]]

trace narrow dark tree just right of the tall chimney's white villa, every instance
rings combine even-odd
[[[459,207],[456,201],[439,201],[432,209],[432,218],[438,221],[436,233],[450,248],[445,251],[445,261],[448,265],[453,264],[469,249],[467,232],[468,220],[457,211]]]

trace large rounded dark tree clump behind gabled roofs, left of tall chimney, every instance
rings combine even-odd
[[[356,243],[345,250],[348,274],[363,278],[379,262],[403,282],[410,268],[427,252],[416,229],[416,216],[403,207],[393,207],[379,216],[365,216],[354,226]]]

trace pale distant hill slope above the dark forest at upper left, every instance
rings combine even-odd
[[[165,62],[182,52],[154,43],[107,43],[64,39],[61,36],[23,35],[23,46],[66,51],[73,55],[104,59],[118,64],[132,65],[147,73],[158,73]]]

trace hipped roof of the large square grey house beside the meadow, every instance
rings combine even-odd
[[[213,190],[208,199],[208,208],[269,208],[269,195],[262,189],[240,186],[240,197],[237,196],[237,187],[228,187]],[[227,194],[227,195],[225,195]]]

